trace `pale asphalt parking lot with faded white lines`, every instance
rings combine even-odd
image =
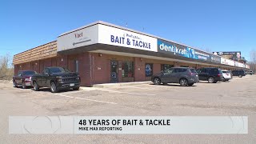
[[[52,94],[0,82],[1,142],[256,142],[256,75],[230,82],[84,88]],[[248,116],[249,134],[8,134],[8,116]]]

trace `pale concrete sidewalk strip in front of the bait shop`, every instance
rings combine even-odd
[[[103,83],[103,84],[95,84],[93,87],[95,88],[113,88],[117,86],[136,86],[142,84],[150,84],[151,81],[146,82],[118,82],[118,83]]]

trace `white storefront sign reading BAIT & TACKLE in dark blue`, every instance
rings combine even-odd
[[[98,25],[98,43],[157,52],[157,38],[112,26]]]

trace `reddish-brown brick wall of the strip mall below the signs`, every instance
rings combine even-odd
[[[209,67],[209,65],[188,64],[183,62],[167,62],[148,58],[133,58],[111,54],[82,53],[70,55],[58,55],[54,58],[46,58],[33,62],[26,62],[14,66],[15,74],[18,70],[35,70],[42,73],[47,66],[62,66],[70,71],[75,71],[75,60],[78,60],[78,73],[81,77],[81,86],[92,86],[98,83],[110,82],[110,61],[118,62],[118,82],[139,82],[150,80],[146,78],[145,64],[153,63],[153,74],[161,71],[162,64],[174,66]],[[134,78],[122,78],[122,62],[134,62]]]

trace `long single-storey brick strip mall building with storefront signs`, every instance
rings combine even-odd
[[[106,22],[94,22],[58,36],[57,41],[14,55],[18,70],[41,73],[47,66],[78,72],[82,86],[108,82],[148,81],[152,74],[174,66],[249,69],[177,42]]]

